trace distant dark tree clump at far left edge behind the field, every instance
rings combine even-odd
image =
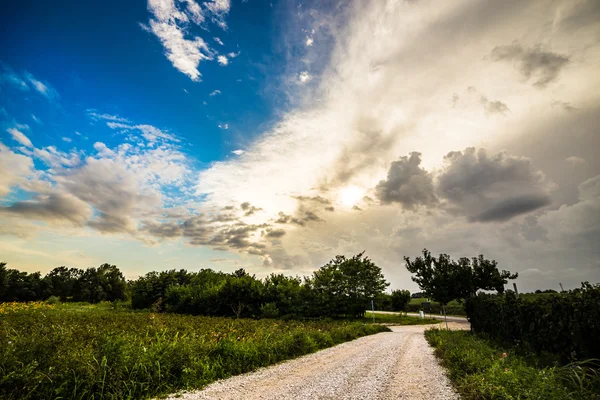
[[[110,264],[86,270],[58,267],[42,277],[6,268],[0,263],[0,302],[45,300],[50,296],[73,301],[124,300],[127,282],[119,269]]]

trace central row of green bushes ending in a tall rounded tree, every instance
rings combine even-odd
[[[146,274],[130,288],[137,309],[238,318],[356,318],[371,299],[383,297],[392,307],[392,297],[383,293],[387,285],[381,268],[361,253],[337,256],[304,279],[271,274],[260,280],[243,269],[232,274],[172,270]]]

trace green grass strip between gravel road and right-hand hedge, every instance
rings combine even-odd
[[[540,367],[534,356],[470,332],[431,329],[425,336],[463,399],[600,399],[596,361]]]

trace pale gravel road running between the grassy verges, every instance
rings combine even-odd
[[[170,399],[458,399],[423,331],[393,326]]]

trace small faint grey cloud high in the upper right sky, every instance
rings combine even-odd
[[[562,54],[544,51],[540,45],[525,48],[518,43],[497,46],[492,50],[494,61],[515,61],[519,72],[529,80],[535,77],[533,85],[544,88],[556,80],[560,70],[569,62]]]

